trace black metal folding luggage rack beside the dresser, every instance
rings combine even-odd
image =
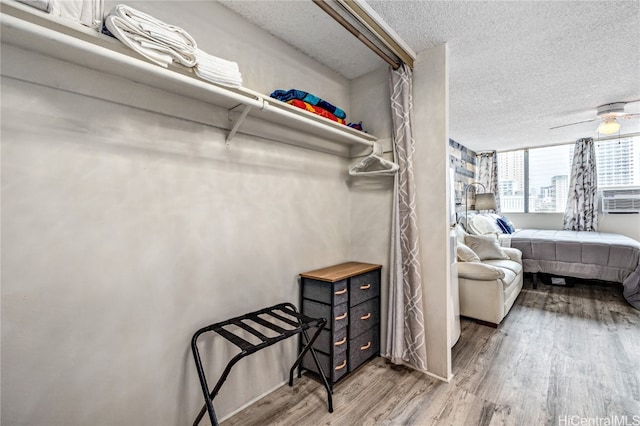
[[[276,311],[279,311],[280,313]],[[283,314],[285,314],[286,316]],[[295,318],[296,320],[294,321],[291,318]],[[263,333],[251,327],[245,321],[253,321],[256,324],[259,324],[263,327],[273,330],[274,332],[277,333],[277,335],[274,337],[267,337]],[[285,329],[280,325],[278,325],[276,322],[280,324],[285,323],[293,328]],[[218,394],[218,391],[220,391],[220,388],[222,387],[222,384],[227,379],[227,376],[231,372],[231,368],[238,361],[240,361],[242,358],[244,358],[247,355],[251,355],[252,353],[259,351],[260,349],[264,349],[281,340],[287,339],[297,334],[302,334],[304,336],[304,340],[301,345],[302,349],[300,351],[300,354],[298,355],[298,358],[296,359],[296,361],[293,363],[291,370],[289,370],[289,386],[293,386],[293,370],[300,365],[304,355],[308,351],[311,351],[311,355],[313,356],[316,366],[318,367],[318,371],[320,372],[320,377],[322,377],[324,387],[327,390],[327,405],[329,408],[329,412],[332,413],[333,412],[333,401],[331,398],[332,391],[331,391],[331,388],[329,387],[329,383],[327,382],[327,379],[324,373],[322,372],[322,367],[320,366],[320,362],[318,361],[318,356],[316,355],[316,352],[313,349],[313,342],[315,342],[315,340],[318,338],[318,336],[320,335],[320,332],[322,331],[326,323],[327,323],[327,320],[325,318],[310,318],[304,314],[299,313],[293,304],[281,303],[278,305],[271,306],[270,308],[264,308],[259,311],[255,311],[239,317],[231,318],[227,321],[211,324],[196,331],[196,333],[193,335],[193,338],[191,339],[191,350],[193,352],[193,357],[195,359],[196,369],[198,370],[198,377],[200,378],[200,385],[202,386],[202,392],[204,394],[205,404],[200,410],[198,417],[196,417],[195,421],[193,422],[193,425],[197,426],[198,423],[200,423],[200,420],[202,420],[202,417],[204,417],[205,411],[209,412],[209,419],[211,420],[211,424],[214,426],[218,425],[218,419],[216,417],[215,410],[213,409],[213,399],[216,397],[216,395]],[[242,337],[236,334],[233,334],[229,330],[226,330],[224,328],[225,326],[238,326],[243,330],[251,333],[258,339],[260,339],[261,343],[258,343],[255,345],[253,343],[249,343]],[[311,338],[309,338],[309,334],[307,333],[307,330],[312,327],[316,327],[316,332]],[[231,359],[231,361],[229,361],[229,363],[227,364],[227,367],[224,369],[224,372],[222,373],[222,376],[220,376],[220,379],[218,379],[218,382],[216,383],[215,387],[211,392],[209,392],[209,387],[207,386],[207,379],[204,374],[204,369],[202,368],[200,352],[198,351],[198,346],[197,346],[198,337],[200,337],[201,334],[206,333],[208,331],[214,331],[218,333],[220,336],[224,337],[234,345],[238,346],[241,350],[239,354],[237,354],[235,357]],[[300,369],[298,370],[298,377],[301,377]]]

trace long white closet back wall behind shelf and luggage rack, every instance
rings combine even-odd
[[[135,5],[238,60],[248,87],[349,104],[346,79],[215,3]],[[193,332],[298,304],[299,272],[350,260],[348,162],[244,135],[227,149],[197,123],[224,111],[5,45],[2,64],[2,423],[192,422]],[[220,340],[211,378],[237,353]],[[294,354],[243,360],[219,416],[283,383]]]

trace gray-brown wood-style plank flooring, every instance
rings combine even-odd
[[[526,277],[497,329],[462,320],[452,369],[444,383],[376,358],[335,386],[333,413],[303,375],[223,425],[637,426],[640,311],[620,287]]]

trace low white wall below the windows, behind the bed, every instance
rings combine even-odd
[[[516,228],[562,229],[562,213],[506,213]],[[640,241],[640,215],[600,214],[598,231],[626,235]]]

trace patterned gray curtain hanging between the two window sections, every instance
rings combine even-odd
[[[598,230],[598,171],[593,138],[578,139],[573,153],[563,229]]]

